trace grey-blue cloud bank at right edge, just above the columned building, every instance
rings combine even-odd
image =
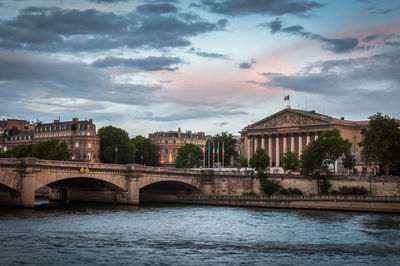
[[[310,65],[304,73],[293,76],[270,76],[263,85],[283,87],[325,95],[346,96],[370,84],[385,84],[376,91],[400,91],[400,50],[348,60],[323,61]],[[383,86],[383,85],[382,85]],[[369,89],[369,88],[368,88]],[[373,100],[373,99],[370,99]]]

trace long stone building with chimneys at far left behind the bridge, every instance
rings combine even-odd
[[[12,149],[18,144],[37,143],[58,139],[66,142],[71,160],[100,161],[100,139],[92,119],[53,123],[29,123],[24,120],[3,120],[0,124],[0,152]]]

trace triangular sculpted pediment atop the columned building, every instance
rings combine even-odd
[[[246,129],[285,128],[330,124],[330,120],[332,120],[331,117],[318,113],[295,109],[284,109],[276,114],[247,126]]]

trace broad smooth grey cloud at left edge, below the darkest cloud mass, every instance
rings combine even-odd
[[[91,99],[120,104],[146,105],[159,86],[120,84],[82,63],[68,63],[28,53],[0,53],[0,92],[13,91],[13,101],[40,97]],[[29,90],[26,88],[29,84]],[[4,99],[4,98],[3,98]]]

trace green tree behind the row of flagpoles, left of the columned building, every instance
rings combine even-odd
[[[222,163],[222,143],[224,144],[225,150],[225,158],[224,163],[225,166],[230,164],[230,158],[233,156],[237,158],[238,154],[236,152],[236,139],[233,137],[231,133],[222,132],[221,134],[214,135],[211,139],[206,142],[206,165],[208,165],[208,145],[210,144],[210,166],[212,167],[212,151],[213,151],[213,143],[215,145],[215,162],[217,162],[217,145],[219,143],[219,160]]]

